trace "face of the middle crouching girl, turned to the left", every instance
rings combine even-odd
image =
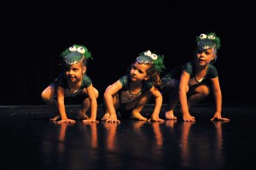
[[[148,69],[151,65],[139,64],[137,61],[134,65],[131,65],[131,81],[143,81],[148,80],[149,75],[147,74]]]

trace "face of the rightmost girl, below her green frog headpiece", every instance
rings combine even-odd
[[[216,54],[214,54],[214,49],[203,49],[198,48],[196,51],[196,60],[199,65],[208,65],[212,59],[214,59]]]

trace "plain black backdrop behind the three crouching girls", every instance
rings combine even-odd
[[[40,94],[59,74],[59,54],[84,44],[87,74],[102,94],[137,54],[165,55],[166,71],[192,59],[195,36],[221,39],[218,68],[224,103],[254,103],[255,17],[246,2],[7,2],[1,10],[0,105],[44,105]],[[189,4],[188,4],[189,3]]]

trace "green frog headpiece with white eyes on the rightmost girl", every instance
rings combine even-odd
[[[219,48],[220,47],[220,40],[219,37],[216,36],[215,33],[211,32],[208,34],[201,34],[197,37],[197,45],[204,49],[209,48]]]

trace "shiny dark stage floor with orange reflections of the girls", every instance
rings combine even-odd
[[[77,110],[67,106],[68,116]],[[230,122],[211,122],[213,111],[209,105],[191,108],[195,123],[177,114],[177,121],[163,123],[57,124],[46,106],[2,106],[1,169],[254,169],[256,106],[224,106],[222,116]],[[102,115],[99,105],[98,120]]]

